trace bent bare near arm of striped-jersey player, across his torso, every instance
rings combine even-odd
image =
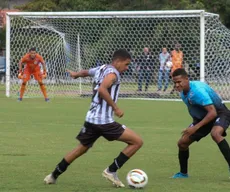
[[[116,81],[117,76],[115,73],[109,73],[107,76],[105,76],[104,80],[102,81],[100,87],[98,88],[98,93],[102,99],[104,99],[109,106],[112,107],[114,110],[115,114],[118,117],[123,116],[123,111],[121,111],[116,103],[113,101],[111,98],[108,89],[113,85],[113,83]]]

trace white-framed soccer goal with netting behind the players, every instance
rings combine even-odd
[[[46,61],[49,97],[90,96],[92,79],[73,80],[66,69],[109,64],[113,52],[125,48],[132,63],[122,75],[120,97],[179,99],[172,92],[170,68],[160,67],[159,60],[162,48],[170,55],[179,48],[181,52],[169,58],[172,63],[183,60],[190,79],[206,81],[230,100],[230,31],[216,14],[202,10],[27,12],[8,13],[7,24],[7,96],[18,96],[18,63],[31,47]],[[42,96],[33,77],[25,96]]]

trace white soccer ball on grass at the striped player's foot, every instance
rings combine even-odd
[[[133,169],[128,172],[126,177],[129,187],[140,189],[144,188],[148,183],[147,174],[140,169]]]

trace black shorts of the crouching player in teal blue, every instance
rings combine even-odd
[[[199,121],[193,122],[190,126],[196,125]],[[219,117],[217,117],[214,121],[208,123],[207,125],[204,125],[200,129],[198,129],[194,134],[190,135],[190,139],[193,141],[199,141],[203,137],[206,137],[212,130],[214,126],[220,126],[224,129],[223,135],[226,136],[226,130],[230,125],[230,115],[229,113],[221,114]]]

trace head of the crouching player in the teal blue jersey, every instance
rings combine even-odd
[[[183,68],[178,68],[172,73],[172,80],[177,91],[189,91],[188,73]]]

